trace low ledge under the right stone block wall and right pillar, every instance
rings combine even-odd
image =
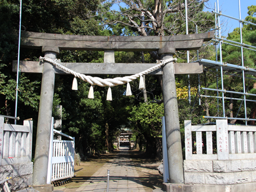
[[[251,192],[256,191],[256,182],[229,185],[163,183],[163,190],[166,192]]]

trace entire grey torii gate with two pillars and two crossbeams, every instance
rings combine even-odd
[[[46,58],[56,59],[60,49],[105,51],[104,63],[60,63],[67,68],[83,74],[136,74],[146,70],[155,63],[115,63],[114,51],[158,51],[162,60],[172,58],[175,51],[195,50],[204,41],[210,41],[214,31],[201,34],[175,36],[86,36],[62,35],[22,31],[21,46],[24,48],[42,49]],[[13,61],[13,72],[17,70],[17,61]],[[41,97],[38,114],[37,140],[33,172],[33,186],[51,191],[47,186],[47,167],[49,152],[49,136],[51,129],[52,102],[54,97],[55,73],[64,74],[51,63],[21,61],[20,71],[24,73],[42,73]],[[180,138],[179,113],[175,74],[202,73],[199,63],[169,62],[162,69],[152,74],[162,74],[163,104],[165,109],[166,140],[168,150],[170,183],[184,183],[182,144]],[[42,189],[41,188],[41,189]],[[39,188],[37,188],[39,190]]]

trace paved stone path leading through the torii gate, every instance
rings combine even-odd
[[[76,191],[107,191],[107,174],[109,171],[109,192],[145,192],[143,185],[138,180],[138,173],[126,147],[122,147],[122,156],[111,159],[101,169],[94,173]],[[124,155],[127,154],[127,155]]]

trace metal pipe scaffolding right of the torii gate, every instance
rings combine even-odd
[[[239,2],[239,19],[232,17],[232,16],[228,16],[228,15],[223,15],[220,11],[219,11],[219,0],[217,0],[217,6],[215,3],[215,10],[212,11],[212,13],[215,14],[215,38],[214,38],[214,42],[216,45],[216,61],[211,61],[211,60],[207,60],[207,59],[198,59],[195,62],[200,62],[203,66],[204,66],[204,70],[212,70],[212,69],[216,69],[215,72],[221,72],[221,88],[218,88],[218,75],[216,78],[216,89],[214,88],[204,88],[201,87],[200,88],[200,83],[199,83],[199,87],[198,90],[207,90],[207,91],[216,91],[217,96],[210,96],[210,95],[201,95],[200,97],[208,97],[208,98],[216,98],[217,101],[217,106],[219,106],[219,99],[222,99],[222,110],[223,110],[223,116],[204,116],[204,118],[212,118],[212,119],[236,119],[236,120],[243,120],[245,121],[245,124],[247,125],[247,122],[249,120],[256,120],[256,119],[250,119],[247,118],[247,110],[246,110],[246,104],[247,102],[256,102],[256,100],[253,99],[246,99],[246,97],[248,95],[250,96],[256,96],[256,94],[249,94],[247,93],[246,90],[246,79],[253,79],[256,80],[253,77],[247,77],[248,75],[250,76],[256,76],[256,69],[244,66],[244,55],[243,55],[243,49],[248,49],[251,51],[256,51],[256,47],[252,46],[252,45],[248,45],[248,44],[244,44],[243,42],[243,35],[242,35],[242,23],[247,23],[247,24],[251,24],[256,26],[255,23],[251,23],[251,22],[247,22],[246,20],[241,19],[241,6],[240,6],[240,0],[238,0]],[[221,24],[220,24],[220,17],[228,17],[230,19],[234,19],[237,20],[240,23],[240,42],[236,42],[236,41],[231,41],[231,40],[227,40],[226,38],[222,37],[222,33],[221,33]],[[240,47],[241,48],[241,65],[233,65],[230,63],[226,63],[222,61],[222,44],[227,44],[227,45],[232,45],[234,47]],[[219,49],[219,58],[218,58],[218,49]],[[224,73],[225,72],[225,73]],[[227,91],[224,88],[224,83],[223,83],[223,76],[227,74],[230,76],[236,76],[236,77],[241,77],[241,79],[243,80],[243,91],[241,92],[237,92],[237,91]],[[247,76],[246,76],[247,75]],[[198,77],[199,79],[199,77]],[[248,89],[248,88],[247,88]],[[221,94],[221,96],[219,96],[219,93]],[[225,94],[226,93],[232,93],[232,94],[236,94],[236,95],[243,95],[242,98],[233,98],[233,97],[226,97]],[[240,111],[241,108],[241,104],[239,107],[239,111],[237,112],[237,115],[235,118],[228,118],[227,116],[225,116],[225,100],[226,99],[233,99],[233,100],[240,100],[243,101],[244,104],[244,118],[237,118],[237,115]],[[200,104],[201,104],[201,100],[199,100]],[[218,109],[219,110],[219,109]]]

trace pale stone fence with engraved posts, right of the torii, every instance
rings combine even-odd
[[[202,151],[202,132],[206,137],[205,154]],[[216,120],[216,125],[192,126],[191,120],[185,120],[185,150],[186,160],[256,158],[256,126],[228,125],[227,120],[222,119]]]

